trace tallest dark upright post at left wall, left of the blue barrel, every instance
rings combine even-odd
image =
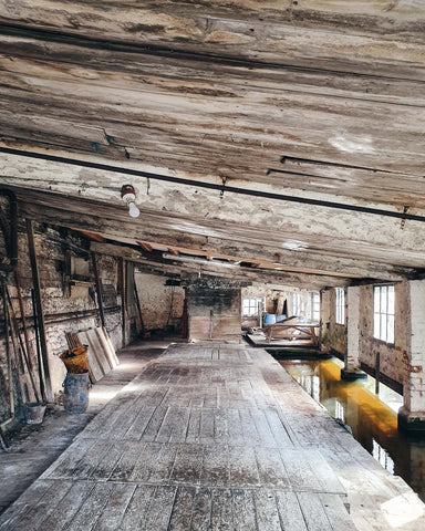
[[[27,219],[27,236],[28,236],[28,248],[30,251],[32,283],[34,284],[34,299],[35,299],[35,309],[37,309],[37,316],[38,316],[38,324],[39,324],[41,357],[42,357],[42,364],[43,364],[43,375],[44,375],[43,387],[45,393],[45,396],[43,396],[43,399],[52,403],[53,393],[52,393],[52,383],[50,379],[49,350],[48,350],[48,342],[45,339],[45,325],[44,325],[43,305],[41,301],[40,275],[39,275],[39,267],[37,263],[34,231],[32,227],[32,221],[30,219]]]

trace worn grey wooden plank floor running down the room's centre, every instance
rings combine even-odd
[[[392,529],[366,527],[383,518],[367,510],[367,489],[381,507],[408,488],[380,487],[366,456],[265,351],[173,345],[2,514],[0,530]],[[366,464],[366,509],[353,519],[344,459]],[[397,529],[422,529],[423,518]]]

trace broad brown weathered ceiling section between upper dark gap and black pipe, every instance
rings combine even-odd
[[[425,117],[424,101],[419,106],[411,103],[401,108],[369,101],[367,96],[351,101],[334,94],[300,97],[293,88],[282,93],[278,83],[270,84],[266,92],[243,87],[241,95],[228,86],[225,97],[220,91],[211,91],[211,77],[203,82],[206,93],[199,86],[199,93],[194,94],[189,90],[193,76],[187,74],[173,83],[159,83],[157,75],[148,83],[144,79],[145,88],[139,79],[132,88],[127,75],[118,92],[117,85],[107,86],[107,72],[96,72],[91,80],[93,71],[80,67],[75,73],[68,66],[68,73],[58,72],[62,81],[54,81],[52,63],[49,65],[43,74],[38,64],[34,77],[29,74],[31,65],[22,66],[24,74],[13,73],[9,81],[13,90],[6,91],[8,107],[0,113],[4,138],[44,140],[46,147],[99,152],[111,158],[122,146],[123,158],[127,155],[144,164],[198,173],[201,160],[210,173],[235,177],[242,169],[251,180],[260,176],[270,180],[263,176],[281,155],[307,158],[312,150],[323,160],[343,163],[350,156],[353,163],[374,169],[422,175],[424,121],[418,118]],[[49,77],[48,84],[43,75]],[[135,90],[136,85],[142,92]],[[30,103],[29,90],[34,93]],[[259,126],[265,115],[268,121]],[[241,152],[246,163],[242,168]],[[258,157],[258,152],[263,156]],[[382,190],[381,186],[376,188]]]

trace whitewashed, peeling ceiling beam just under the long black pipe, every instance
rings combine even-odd
[[[110,200],[111,205],[116,205],[121,211],[125,211],[120,191],[128,177],[123,178],[120,175],[120,168],[105,173],[89,168],[82,170],[77,165],[52,163],[48,174],[42,166],[42,160],[39,160],[40,166],[35,163],[35,160],[32,162],[32,171],[35,170],[38,175],[43,176],[39,177],[40,187],[43,190],[55,189],[74,196],[76,211],[84,214],[85,207],[80,204],[81,198],[96,201],[100,190],[102,197]],[[19,173],[20,165],[14,162],[13,168]],[[7,171],[7,168],[4,170]],[[21,176],[22,187],[28,184],[29,177],[24,171],[23,169]],[[83,171],[82,175],[80,175],[81,171]],[[3,177],[2,181],[18,183],[19,179]],[[242,236],[241,231],[246,230],[258,235],[258,227],[261,227],[263,241],[279,244],[279,247],[284,246],[288,240],[299,240],[301,242],[299,247],[317,250],[321,243],[332,241],[330,248],[338,246],[345,257],[349,252],[354,252],[357,258],[361,256],[372,260],[388,260],[390,263],[400,266],[408,266],[407,261],[414,260],[411,263],[412,267],[423,267],[424,256],[417,249],[424,247],[425,235],[418,221],[410,220],[406,223],[402,221],[405,216],[411,215],[410,212],[407,215],[403,211],[395,212],[402,218],[401,220],[385,219],[371,214],[335,211],[328,206],[289,204],[284,200],[261,197],[249,198],[246,195],[226,191],[226,188],[221,189],[220,186],[219,189],[225,191],[224,195],[215,190],[203,190],[201,184],[197,189],[197,183],[178,189],[173,184],[154,181],[145,177],[132,177],[132,183],[137,191],[137,202],[146,212],[145,216],[149,214],[151,223],[162,223],[162,227],[166,226],[172,230],[221,238],[222,232],[226,235],[229,232],[226,227],[231,222],[234,228],[241,227],[239,236]],[[263,190],[266,192],[267,188],[263,187]],[[38,197],[37,200],[51,206],[50,199]],[[56,198],[52,196],[51,200],[55,201]],[[294,198],[294,200],[298,199]],[[105,206],[99,205],[99,208],[105,209]],[[270,216],[270,212],[273,216]],[[390,210],[388,214],[391,214]],[[111,215],[114,217],[115,212],[112,211]],[[388,242],[391,250],[387,249]],[[403,252],[400,252],[401,250]],[[326,253],[326,250],[322,249],[322,252]],[[397,254],[400,254],[398,258],[395,258]]]

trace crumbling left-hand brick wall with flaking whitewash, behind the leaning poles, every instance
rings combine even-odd
[[[70,283],[66,277],[65,253],[72,251],[73,254],[89,259],[86,251],[87,242],[77,236],[71,236],[68,231],[52,228],[45,225],[34,223],[35,252],[39,266],[39,277],[41,283],[42,306],[45,316],[45,335],[49,352],[49,367],[53,393],[62,388],[62,382],[65,377],[65,367],[59,354],[68,348],[66,332],[80,332],[100,325],[97,310],[95,304],[94,282]],[[27,233],[23,230],[18,235],[19,249],[19,275],[21,279],[21,293],[23,308],[27,319],[27,325],[30,339],[30,355],[37,367],[37,343],[33,324],[33,306],[31,290],[33,288],[31,264],[29,257],[29,247]],[[116,259],[112,257],[97,257],[99,271],[102,282],[106,284],[116,284]],[[18,301],[18,291],[13,273],[7,277],[7,285],[12,299],[15,315],[21,323],[21,313]],[[106,290],[107,291],[107,290]],[[105,320],[106,329],[115,348],[121,347],[121,298],[111,298],[106,301]],[[1,314],[2,314],[1,310]],[[3,321],[3,319],[2,319]],[[4,346],[4,332],[1,330],[2,342],[0,345],[0,369],[3,379],[8,381],[7,356]],[[21,330],[21,335],[22,330]],[[10,342],[12,356],[14,356],[12,343]],[[34,377],[38,382],[38,371],[34,371]],[[20,404],[27,402],[25,397],[19,395],[19,385],[14,382],[14,402],[17,410]],[[3,386],[2,386],[3,387]],[[9,388],[9,381],[7,382]],[[4,392],[4,389],[3,389]],[[2,393],[3,394],[3,393]],[[2,403],[9,404],[8,397],[2,397]],[[8,412],[6,408],[0,410],[0,420],[4,420]]]

